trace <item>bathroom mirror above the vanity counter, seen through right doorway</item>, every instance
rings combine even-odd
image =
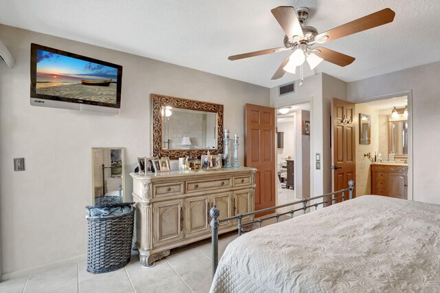
[[[408,121],[388,121],[388,151],[408,155]]]

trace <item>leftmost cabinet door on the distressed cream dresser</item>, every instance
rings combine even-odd
[[[153,204],[153,247],[184,239],[184,200]]]

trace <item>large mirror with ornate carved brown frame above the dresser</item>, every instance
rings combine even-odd
[[[153,157],[199,158],[223,152],[223,105],[151,95]]]

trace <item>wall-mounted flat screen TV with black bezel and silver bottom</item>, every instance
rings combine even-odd
[[[31,105],[119,113],[122,66],[31,44]]]

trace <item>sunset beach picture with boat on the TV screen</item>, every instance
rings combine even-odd
[[[36,94],[115,104],[118,69],[36,51]]]

